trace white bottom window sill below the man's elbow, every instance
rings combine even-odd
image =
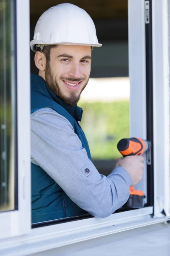
[[[170,216],[163,215],[161,218],[152,218],[152,212],[153,207],[146,207],[126,214],[115,213],[108,218],[89,218],[35,228],[29,235],[1,240],[0,255],[25,256],[170,219]]]

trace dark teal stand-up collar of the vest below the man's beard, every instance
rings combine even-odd
[[[57,97],[57,95],[50,90],[48,85],[46,84],[45,80],[41,76],[37,76],[34,74],[31,74],[31,83],[33,84],[39,84],[40,86],[37,88],[37,90],[42,93],[43,95],[47,97],[51,97],[55,102],[57,102],[59,105],[61,105],[65,110],[73,116],[73,118],[76,121],[81,121],[82,119],[82,108],[78,107],[77,105],[71,107],[65,104],[61,99]]]

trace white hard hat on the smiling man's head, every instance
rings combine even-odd
[[[68,44],[100,47],[96,36],[96,28],[91,17],[85,10],[71,3],[62,3],[45,11],[35,26],[35,45]]]

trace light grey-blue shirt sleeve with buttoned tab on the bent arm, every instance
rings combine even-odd
[[[94,217],[111,215],[129,198],[129,173],[116,167],[108,177],[99,174],[71,123],[51,108],[31,114],[31,162]]]

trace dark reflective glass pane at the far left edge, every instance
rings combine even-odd
[[[14,1],[0,0],[0,211],[12,210],[16,205],[14,27]]]

